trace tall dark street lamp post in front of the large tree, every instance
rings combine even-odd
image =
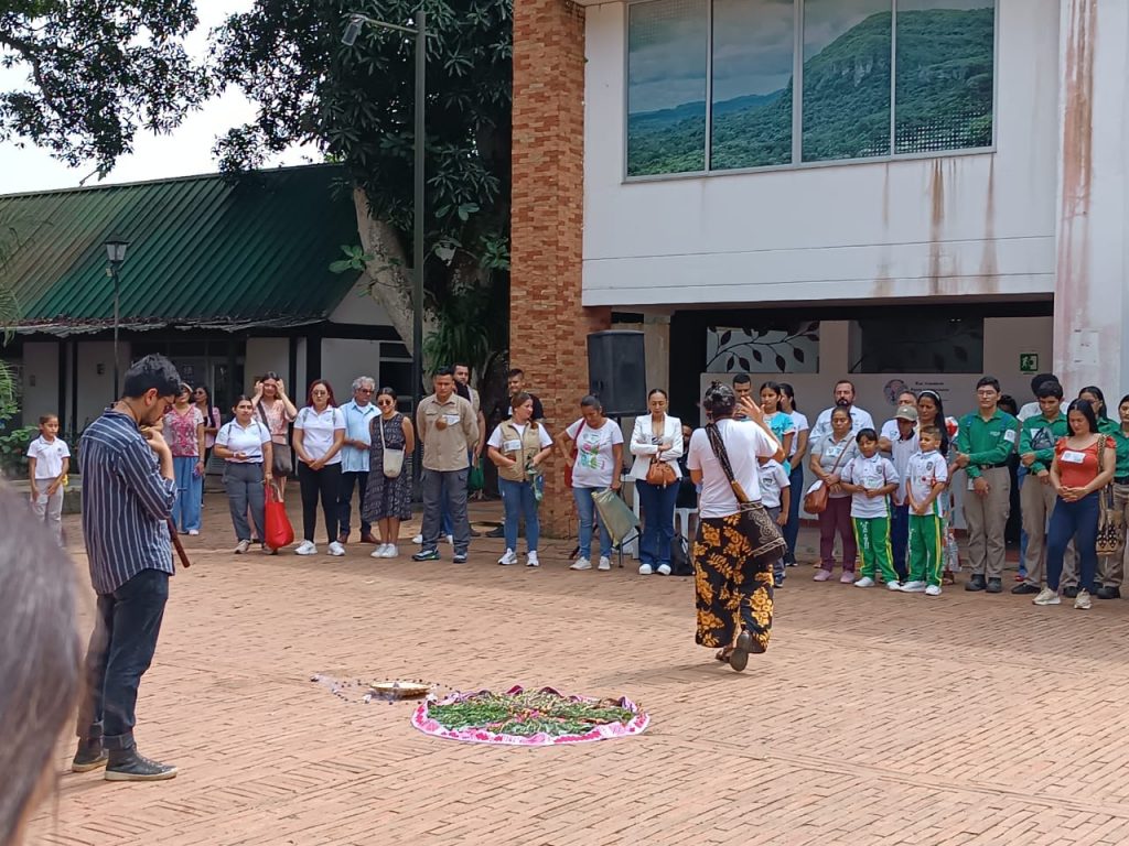
[[[427,94],[427,16],[422,8],[415,11],[415,26],[401,26],[390,24],[385,20],[375,20],[365,15],[350,15],[349,25],[345,27],[341,43],[352,46],[357,43],[361,27],[366,24],[378,26],[384,29],[395,29],[415,36],[415,197],[412,217],[414,218],[414,232],[412,237],[412,420],[415,420],[415,409],[419,408],[423,399],[423,144],[425,123],[423,103]],[[420,461],[422,444],[417,443],[417,460],[412,461],[412,482],[415,490],[419,490]]]

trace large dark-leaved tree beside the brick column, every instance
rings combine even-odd
[[[218,34],[226,83],[257,106],[218,151],[228,170],[294,143],[340,161],[357,206],[360,247],[339,270],[367,270],[375,299],[411,340],[414,41],[352,14],[412,25],[420,0],[255,0]],[[427,213],[423,267],[428,359],[478,370],[506,345],[509,270],[513,0],[425,0]]]

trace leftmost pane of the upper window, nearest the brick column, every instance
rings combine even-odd
[[[706,169],[707,0],[628,10],[628,176]]]

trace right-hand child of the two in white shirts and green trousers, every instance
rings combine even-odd
[[[925,426],[918,434],[921,450],[905,470],[905,501],[910,506],[909,581],[907,593],[940,596],[942,513],[938,496],[948,482],[948,466],[940,455],[940,430]]]

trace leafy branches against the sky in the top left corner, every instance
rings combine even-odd
[[[193,0],[15,0],[0,10],[0,65],[27,86],[0,94],[0,141],[26,139],[102,173],[138,129],[168,132],[208,94],[183,38]]]

